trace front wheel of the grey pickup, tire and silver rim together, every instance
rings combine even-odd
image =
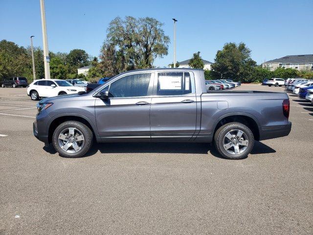
[[[53,132],[52,143],[62,157],[79,158],[90,149],[93,141],[91,130],[78,121],[61,123]]]

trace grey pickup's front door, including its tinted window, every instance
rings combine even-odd
[[[95,116],[103,141],[150,141],[152,72],[133,73],[108,84],[110,98],[96,98]]]

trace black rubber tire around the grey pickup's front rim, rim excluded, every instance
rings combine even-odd
[[[81,149],[75,153],[68,153],[64,149],[62,149],[59,145],[59,135],[62,131],[67,128],[75,128],[79,132],[82,133],[84,137],[84,144]],[[90,149],[93,142],[93,135],[92,131],[89,129],[88,126],[79,122],[79,121],[66,121],[61,123],[53,132],[52,136],[52,144],[54,149],[59,153],[60,156],[66,158],[79,158],[84,156]]]

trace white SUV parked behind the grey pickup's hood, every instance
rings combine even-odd
[[[76,94],[79,92],[85,92],[85,89],[83,87],[74,87],[67,81],[60,79],[35,80],[27,88],[27,95],[32,100],[38,100],[40,97]]]

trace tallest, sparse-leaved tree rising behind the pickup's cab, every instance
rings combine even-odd
[[[170,39],[154,18],[120,17],[111,21],[101,48],[101,68],[106,74],[152,68],[154,60],[168,53]]]

